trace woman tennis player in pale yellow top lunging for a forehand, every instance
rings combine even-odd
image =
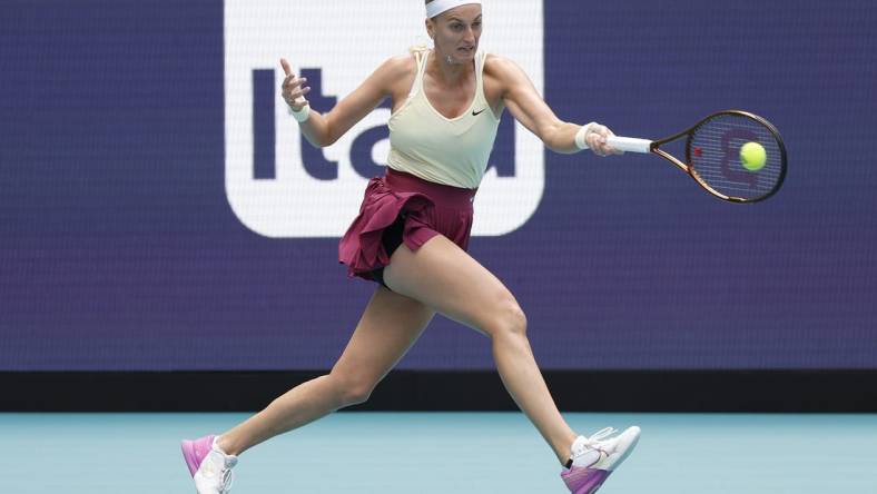
[[[325,115],[308,107],[306,80],[280,60],[283,98],[314,146],[332,145],[392,100],[386,175],[368,182],[359,216],[338,248],[351,276],[378,286],[329,374],[296,386],[221,435],[183,442],[200,494],[227,493],[244,451],[368,399],[436,313],[490,338],[506,389],[554,451],[571,492],[597,491],[637,444],[635,426],[590,437],[570,428],[536,366],[523,310],[466,254],[472,201],[503,109],[558,152],[615,154],[605,141],[612,132],[595,122],[561,121],[514,62],[480,52],[480,1],[427,1],[426,30],[433,49],[391,58]]]

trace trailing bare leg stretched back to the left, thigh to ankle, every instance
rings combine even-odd
[[[338,408],[365,402],[434,314],[416,300],[380,287],[332,372],[294,387],[223,434],[219,447],[237,455]]]

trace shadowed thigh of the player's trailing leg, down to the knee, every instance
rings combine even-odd
[[[332,373],[353,387],[380,382],[421,336],[435,312],[378,287]]]

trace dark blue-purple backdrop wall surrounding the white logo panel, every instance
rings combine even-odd
[[[336,239],[230,211],[221,2],[0,4],[0,369],[331,366],[373,288]],[[747,207],[654,158],[549,154],[533,218],[471,248],[545,368],[877,368],[876,28],[866,1],[545,2],[562,118],[661,137],[743,108],[790,156]],[[436,319],[402,367],[492,360]]]

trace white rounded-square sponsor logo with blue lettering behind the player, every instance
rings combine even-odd
[[[543,93],[542,2],[487,1],[481,49],[518,62]],[[226,194],[238,219],[267,237],[341,237],[366,181],[382,175],[390,101],[327,148],[312,147],[280,98],[286,58],[329,110],[376,67],[425,39],[422,1],[225,1]],[[497,236],[535,213],[542,142],[506,110],[475,198],[473,235]]]

